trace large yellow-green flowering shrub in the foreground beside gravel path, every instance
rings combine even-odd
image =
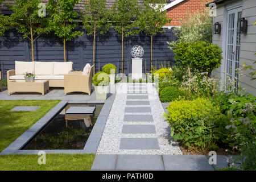
[[[167,110],[164,115],[171,125],[171,137],[181,140],[189,150],[216,147],[212,129],[220,109],[210,100],[200,97],[193,101],[175,100]]]

